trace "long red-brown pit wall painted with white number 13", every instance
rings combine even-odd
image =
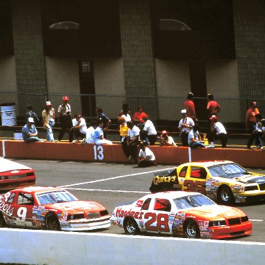
[[[263,150],[233,148],[202,148],[150,146],[158,164],[179,165],[188,161],[230,160],[244,167],[264,168]],[[190,156],[189,156],[190,150]],[[96,146],[94,144],[72,144],[63,142],[36,142],[2,140],[0,155],[6,158],[50,159],[71,161],[128,162],[119,144]]]

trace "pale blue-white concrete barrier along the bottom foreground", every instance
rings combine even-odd
[[[181,264],[263,265],[265,244],[0,229],[0,263],[19,264]]]

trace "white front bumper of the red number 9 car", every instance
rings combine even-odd
[[[60,221],[63,231],[86,231],[110,227],[110,216],[98,219],[77,219],[71,221]]]

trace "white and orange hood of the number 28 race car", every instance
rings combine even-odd
[[[207,218],[213,220],[230,219],[245,216],[242,210],[230,206],[221,205],[200,206],[197,208],[181,210],[181,213],[186,213],[190,215],[195,215],[197,217],[204,217],[204,219]]]

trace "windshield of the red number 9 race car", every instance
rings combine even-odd
[[[56,190],[50,191],[47,193],[41,193],[37,195],[39,203],[43,204],[56,204],[58,202],[72,202],[77,201],[77,198],[74,197],[71,193],[68,193],[66,190]]]

